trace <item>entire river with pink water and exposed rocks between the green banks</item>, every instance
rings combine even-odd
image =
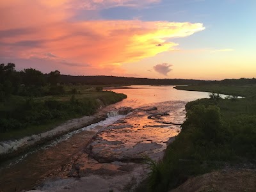
[[[125,182],[142,179],[145,170],[137,162],[141,154],[156,160],[163,157],[166,145],[179,134],[186,118],[186,103],[209,97],[208,93],[173,86],[130,86],[113,92],[124,93],[127,99],[106,107],[106,120],[2,163],[0,191],[84,191],[84,186],[86,191],[122,191]],[[168,115],[148,118],[156,113],[148,110],[154,106],[157,113],[167,111]],[[127,115],[118,113],[125,107],[135,110]]]

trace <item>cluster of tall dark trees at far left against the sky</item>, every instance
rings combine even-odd
[[[26,68],[21,71],[15,69],[14,63],[0,65],[0,101],[8,99],[11,95],[39,97],[42,95],[54,95],[63,92],[63,87],[58,86],[60,71],[55,70],[49,74],[43,74],[34,68]],[[45,91],[45,85],[51,85]]]

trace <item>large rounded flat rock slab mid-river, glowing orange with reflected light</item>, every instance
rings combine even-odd
[[[179,134],[179,128],[157,123],[147,116],[145,110],[134,111],[124,120],[100,130],[88,144],[88,154],[99,163],[138,162],[145,154],[157,159],[156,154]]]

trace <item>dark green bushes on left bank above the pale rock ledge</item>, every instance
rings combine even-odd
[[[124,94],[118,94],[113,92],[106,92],[106,104],[112,102],[118,102],[124,99]],[[35,99],[28,97],[17,102],[18,98],[15,98],[13,105],[10,102],[6,102],[0,108],[0,140],[5,140],[10,132],[15,135],[15,132],[19,132],[29,127],[41,126],[51,124],[52,122],[59,122],[60,120],[68,120],[70,118],[76,118],[83,115],[92,115],[96,109],[99,108],[99,97],[88,97],[77,99],[74,95],[70,96],[69,100],[57,100],[54,98],[49,99]],[[14,99],[14,98],[13,98]],[[44,131],[44,130],[42,130]],[[32,131],[33,132],[33,131]],[[37,132],[35,130],[35,132]],[[15,138],[19,135],[15,136]]]

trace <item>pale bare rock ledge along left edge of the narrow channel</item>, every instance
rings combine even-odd
[[[63,136],[68,132],[79,130],[83,127],[87,127],[92,124],[96,124],[102,120],[108,118],[108,113],[111,111],[111,105],[100,106],[96,113],[90,116],[83,116],[81,118],[74,118],[67,120],[63,124],[58,125],[54,129],[42,132],[40,134],[33,134],[31,136],[25,136],[18,140],[6,140],[0,142],[0,164],[4,161],[19,156],[22,153],[28,152],[33,147],[38,147],[52,141],[55,138]],[[124,111],[123,111],[124,113]]]

